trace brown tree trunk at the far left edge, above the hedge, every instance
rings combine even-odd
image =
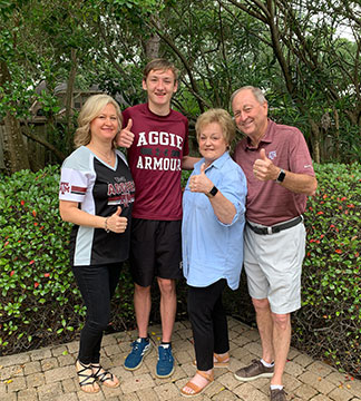
[[[0,86],[10,82],[11,76],[7,63],[0,60]],[[3,163],[7,174],[30,168],[27,146],[20,129],[20,124],[10,111],[7,111],[3,130]]]

